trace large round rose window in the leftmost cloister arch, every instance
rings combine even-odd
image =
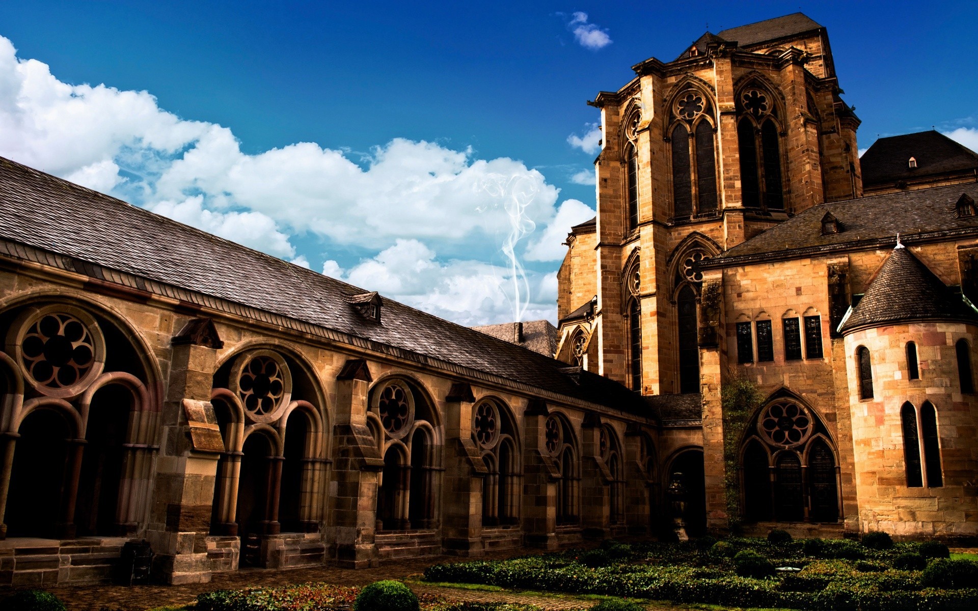
[[[21,340],[24,370],[38,384],[67,388],[95,365],[95,341],[81,321],[69,314],[41,317]]]

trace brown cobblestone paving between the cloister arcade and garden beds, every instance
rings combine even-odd
[[[494,552],[486,559],[505,558],[533,553],[527,549]],[[462,560],[458,556],[434,556],[411,558],[403,562],[383,564],[370,569],[341,569],[332,566],[289,570],[244,569],[230,573],[215,573],[208,584],[184,586],[66,586],[49,589],[65,601],[68,611],[144,611],[160,606],[182,606],[193,602],[201,592],[214,589],[237,589],[246,586],[279,587],[289,584],[326,582],[337,586],[365,586],[381,579],[405,580],[412,575],[420,577],[425,567],[448,560]],[[547,611],[588,609],[594,601],[575,599],[570,596],[540,595],[513,591],[487,591],[473,589],[441,588],[411,584],[418,592],[429,592],[447,598],[477,602],[519,602],[540,606]],[[12,589],[0,588],[0,599]],[[682,611],[682,607],[657,605],[654,608]]]

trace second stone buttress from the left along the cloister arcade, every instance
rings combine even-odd
[[[340,566],[377,566],[378,476],[383,458],[367,426],[368,391],[373,381],[367,362],[351,359],[336,376],[336,423],[330,497]],[[381,432],[382,434],[382,432]]]

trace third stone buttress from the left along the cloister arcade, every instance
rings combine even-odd
[[[488,469],[472,441],[471,387],[452,384],[445,397],[445,496],[442,547],[446,553],[480,556],[482,486]]]

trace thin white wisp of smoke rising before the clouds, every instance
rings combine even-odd
[[[533,202],[539,189],[536,183],[526,176],[503,174],[490,174],[482,181],[480,187],[490,196],[501,199],[503,209],[510,217],[510,234],[503,241],[500,249],[510,261],[512,295],[507,297],[510,298],[512,306],[512,320],[519,322],[523,320],[523,314],[530,304],[530,284],[526,280],[523,264],[516,256],[516,242],[533,233],[537,227],[536,223],[526,216],[526,208]]]

